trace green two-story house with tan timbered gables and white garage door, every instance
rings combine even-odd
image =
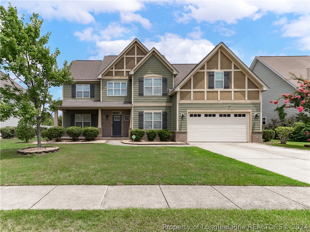
[[[64,127],[99,127],[107,138],[168,129],[174,141],[262,141],[268,87],[224,43],[199,64],[170,64],[135,39],[117,56],[73,61],[71,72],[59,107]]]

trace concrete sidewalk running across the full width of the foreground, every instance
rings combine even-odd
[[[2,186],[0,209],[310,209],[310,187],[47,185]]]

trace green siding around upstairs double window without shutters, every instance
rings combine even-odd
[[[108,82],[127,82],[127,96],[107,96]],[[128,79],[102,79],[102,101],[131,102],[131,80]]]

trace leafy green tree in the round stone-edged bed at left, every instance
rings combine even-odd
[[[11,81],[1,88],[0,120],[9,117],[23,118],[26,122],[37,126],[38,147],[41,147],[40,126],[62,105],[60,99],[53,100],[49,92],[51,86],[59,87],[63,83],[72,84],[73,78],[69,76],[70,66],[64,62],[63,68],[58,68],[58,48],[50,53],[47,43],[51,32],[40,36],[43,20],[38,14],[30,17],[30,23],[24,23],[24,15],[18,19],[16,7],[9,3],[8,9],[0,6],[0,41],[1,41],[1,70],[5,73],[11,71],[15,80],[26,87],[26,92],[16,87],[7,74],[1,80]],[[10,103],[13,99],[13,103]]]

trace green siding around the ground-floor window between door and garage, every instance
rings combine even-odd
[[[156,110],[167,112],[167,130],[171,131],[171,106],[134,106],[132,129],[139,129],[139,112],[156,112]]]

